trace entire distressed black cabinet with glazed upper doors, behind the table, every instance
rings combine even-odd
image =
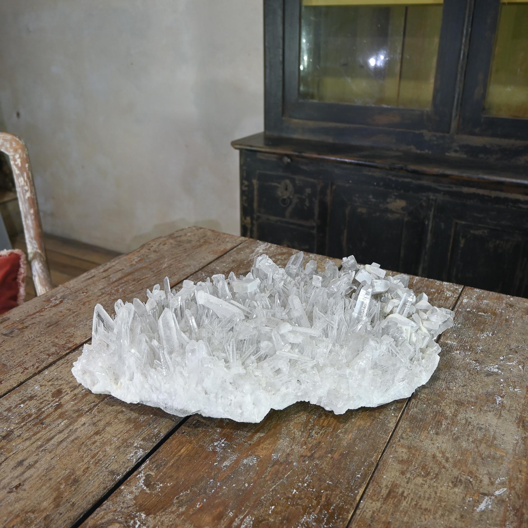
[[[263,4],[242,234],[528,296],[528,3]]]

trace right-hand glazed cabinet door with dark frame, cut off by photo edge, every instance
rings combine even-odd
[[[528,139],[528,0],[475,0],[459,133]]]

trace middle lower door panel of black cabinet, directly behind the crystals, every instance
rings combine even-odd
[[[335,186],[328,229],[333,257],[419,275],[430,217],[428,196],[375,187]]]

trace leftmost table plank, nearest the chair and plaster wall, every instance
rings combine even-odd
[[[144,297],[166,275],[176,284],[243,240],[196,227],[176,231],[3,314],[0,395],[86,342],[96,303],[110,308],[120,297]]]

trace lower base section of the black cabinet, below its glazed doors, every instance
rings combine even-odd
[[[260,134],[235,143],[244,236],[528,296],[522,171],[491,177],[485,166],[389,158],[374,167],[362,161],[371,150],[315,159],[312,143],[277,142]]]

